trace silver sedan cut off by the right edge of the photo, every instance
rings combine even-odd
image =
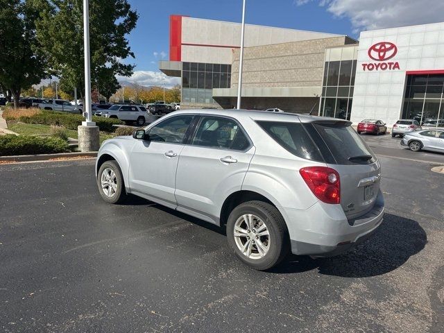
[[[402,146],[409,146],[411,151],[438,151],[444,152],[444,129],[419,130],[406,133],[401,140]]]

